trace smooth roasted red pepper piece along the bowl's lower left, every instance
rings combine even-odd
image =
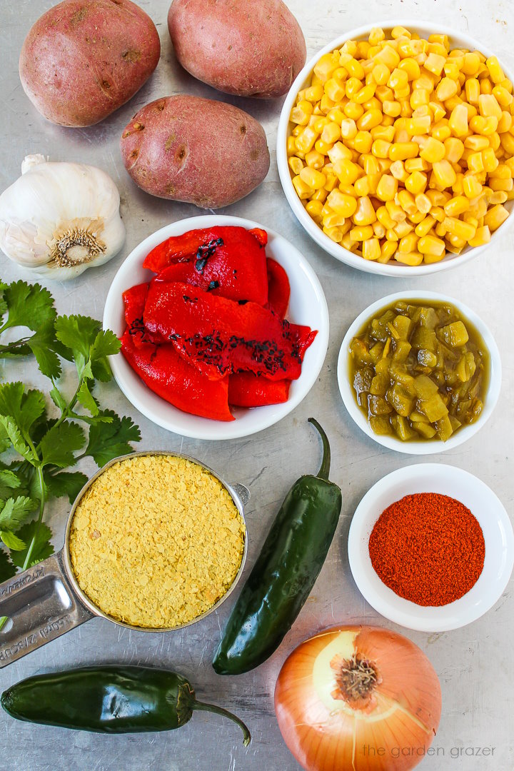
[[[170,343],[156,344],[142,323],[147,284],[123,293],[128,322],[122,352],[149,389],[178,409],[213,420],[233,420],[228,406],[228,377],[211,381],[186,362]]]

